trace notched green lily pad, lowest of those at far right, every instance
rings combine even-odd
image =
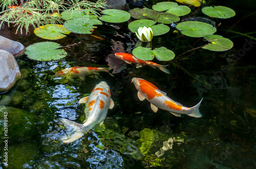
[[[210,42],[203,49],[212,51],[226,51],[233,47],[233,42],[227,38],[223,38],[220,35],[205,35],[204,38]]]

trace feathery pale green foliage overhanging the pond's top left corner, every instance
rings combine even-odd
[[[25,28],[26,33],[29,31],[29,26],[34,28],[45,24],[62,24],[61,17],[52,16],[53,13],[60,13],[64,10],[84,10],[95,15],[105,9],[108,5],[105,0],[98,0],[96,3],[82,0],[31,0],[15,8],[10,8],[17,4],[16,0],[0,0],[0,27],[5,22],[8,26],[11,24],[17,26],[17,31],[22,33]]]

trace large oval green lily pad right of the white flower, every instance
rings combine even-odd
[[[208,34],[214,34],[217,31],[214,26],[199,21],[181,22],[176,25],[176,28],[180,30],[183,35],[197,38]]]

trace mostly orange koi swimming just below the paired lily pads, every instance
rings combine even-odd
[[[170,71],[166,68],[168,65],[159,65],[155,62],[143,61],[135,58],[132,54],[129,54],[129,53],[119,52],[119,53],[115,53],[115,56],[120,60],[123,60],[127,64],[136,64],[137,67],[142,67],[142,65],[151,66],[153,68],[157,67],[165,73],[168,73],[168,74],[170,73]]]

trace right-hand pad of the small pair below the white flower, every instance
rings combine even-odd
[[[175,53],[165,47],[155,48],[153,50],[153,54],[159,61],[170,61],[173,60],[175,57]]]

